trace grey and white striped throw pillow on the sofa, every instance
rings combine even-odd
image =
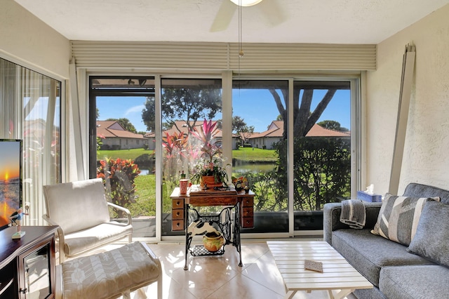
[[[408,246],[416,233],[426,201],[439,197],[398,197],[387,193],[380,208],[373,234]]]

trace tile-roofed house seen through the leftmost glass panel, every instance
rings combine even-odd
[[[142,134],[126,131],[117,121],[97,121],[97,136],[102,138],[102,150],[130,150],[148,144]]]

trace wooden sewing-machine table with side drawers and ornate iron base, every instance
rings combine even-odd
[[[185,230],[185,266],[187,270],[187,255],[222,255],[225,253],[225,246],[232,244],[236,247],[240,255],[239,266],[242,267],[241,261],[241,242],[240,227],[250,228],[254,226],[253,209],[254,209],[254,193],[245,192],[238,193],[235,190],[196,190],[189,191],[187,194],[180,194],[177,187],[170,195],[172,199],[172,230]],[[199,206],[221,206],[222,211],[217,215],[201,215],[196,208]],[[234,210],[234,213],[232,213]],[[194,246],[191,248],[192,239],[196,234],[194,230],[189,232],[190,215],[193,214],[193,221],[198,227],[201,223],[216,225],[220,228],[225,244],[216,253],[208,252],[203,246]],[[234,224],[234,225],[233,225]],[[201,226],[201,225],[200,225]],[[203,234],[200,232],[199,234]]]

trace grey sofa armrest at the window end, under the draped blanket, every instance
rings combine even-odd
[[[363,202],[366,211],[365,228],[372,229],[377,222],[377,215],[379,215],[381,202]],[[323,208],[323,237],[324,241],[332,245],[332,232],[343,228],[350,228],[340,222],[340,214],[342,212],[342,203],[325,204]]]

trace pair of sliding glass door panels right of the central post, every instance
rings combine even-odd
[[[255,192],[246,232],[289,232],[290,217],[294,230],[321,230],[323,204],[351,195],[350,82],[237,79],[232,111],[233,175]]]

